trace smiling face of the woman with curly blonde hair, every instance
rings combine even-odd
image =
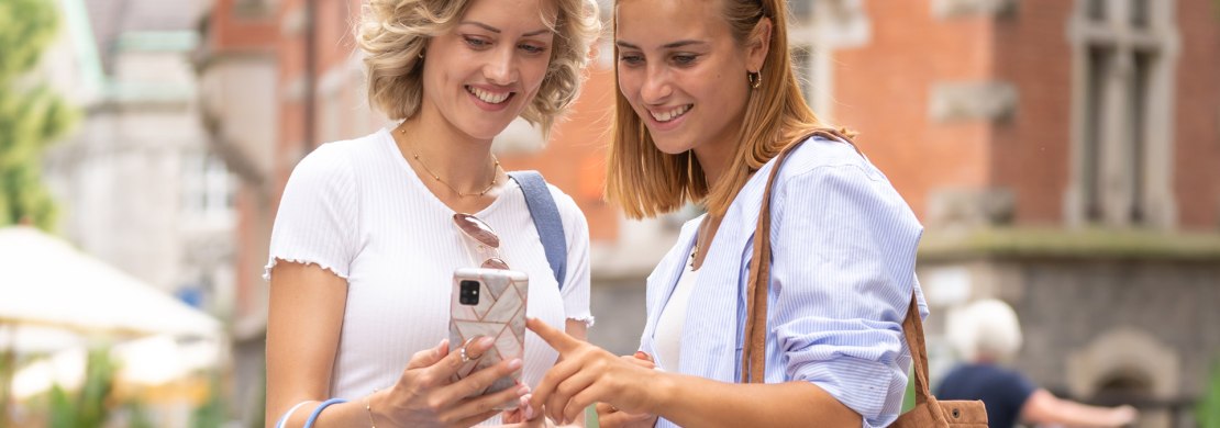
[[[423,115],[460,134],[490,140],[521,115],[542,85],[555,21],[549,0],[472,0],[448,33],[428,43]]]

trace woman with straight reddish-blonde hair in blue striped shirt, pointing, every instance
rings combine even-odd
[[[922,227],[849,135],[805,105],[786,4],[615,2],[608,199],[631,218],[689,202],[706,213],[648,277],[634,357],[529,321],[560,352],[531,400],[540,413],[571,421],[600,402],[603,427],[883,427],[898,417],[913,295],[926,313],[915,278]],[[754,232],[775,168],[765,372],[743,384]]]

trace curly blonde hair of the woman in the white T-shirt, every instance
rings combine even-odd
[[[564,109],[580,94],[589,45],[601,30],[592,0],[550,0],[559,9],[550,65],[538,94],[521,113],[549,133]],[[365,52],[368,104],[392,119],[420,111],[423,98],[423,60],[428,40],[450,30],[471,0],[370,0],[357,27],[356,41]]]

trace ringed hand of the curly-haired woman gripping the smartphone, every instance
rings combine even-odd
[[[492,338],[475,340],[467,345],[466,354],[483,355],[493,343]],[[529,393],[528,387],[520,385],[478,395],[497,379],[520,371],[521,358],[500,361],[451,382],[462,365],[459,352],[449,352],[449,340],[416,352],[394,387],[368,398],[375,421],[389,422],[393,427],[465,428],[499,413],[494,407],[517,402]]]

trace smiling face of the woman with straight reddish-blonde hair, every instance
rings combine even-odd
[[[721,1],[622,0],[616,9],[619,90],[656,148],[727,159],[749,100],[752,63]],[[761,57],[758,61],[761,63]]]

